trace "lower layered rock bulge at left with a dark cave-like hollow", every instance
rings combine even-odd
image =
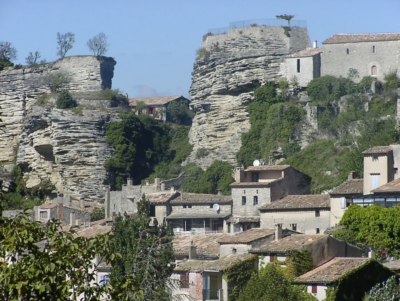
[[[76,114],[33,106],[22,127],[16,158],[26,186],[48,182],[76,199],[103,199],[108,184],[103,163],[112,155],[104,124],[117,119],[117,112],[106,108]]]

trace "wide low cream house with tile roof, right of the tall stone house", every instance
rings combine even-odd
[[[287,195],[259,208],[261,227],[275,223],[306,234],[322,233],[329,227],[330,196],[328,194]]]

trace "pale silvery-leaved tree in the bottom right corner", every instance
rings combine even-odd
[[[373,286],[363,301],[400,301],[398,277],[391,276],[386,281]]]

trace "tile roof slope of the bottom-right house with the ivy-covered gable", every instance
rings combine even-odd
[[[369,260],[372,259],[366,257],[335,257],[313,270],[294,278],[293,282],[331,283]]]

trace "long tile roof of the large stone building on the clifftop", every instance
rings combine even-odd
[[[388,33],[337,33],[325,39],[322,44],[375,42],[400,40],[399,32]]]

